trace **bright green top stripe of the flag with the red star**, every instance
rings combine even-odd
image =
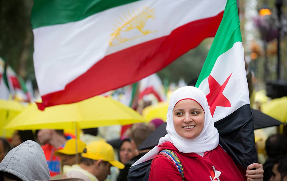
[[[234,4],[236,4],[235,0],[232,3],[226,3],[223,18],[205,59],[195,87],[199,87],[200,83],[210,75],[215,62],[220,55],[231,49],[234,43],[238,41],[242,42],[237,5]],[[238,21],[236,22],[234,19],[237,19]]]

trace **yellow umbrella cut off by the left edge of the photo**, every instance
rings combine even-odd
[[[11,138],[13,130],[4,130],[4,126],[16,115],[18,115],[24,107],[21,103],[13,100],[0,99],[0,136]]]

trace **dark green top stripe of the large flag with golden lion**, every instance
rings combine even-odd
[[[32,28],[83,20],[93,14],[139,0],[35,0]]]

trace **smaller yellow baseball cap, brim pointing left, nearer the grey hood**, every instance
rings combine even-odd
[[[82,142],[81,140],[77,140],[77,152],[76,152],[76,140],[69,139],[65,143],[65,146],[56,150],[55,155],[58,156],[60,153],[65,155],[75,155],[76,153],[82,153],[86,147],[86,143]]]

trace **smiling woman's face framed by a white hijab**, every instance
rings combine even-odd
[[[183,138],[196,138],[203,130],[204,115],[202,107],[196,101],[179,101],[172,112],[175,131]]]

